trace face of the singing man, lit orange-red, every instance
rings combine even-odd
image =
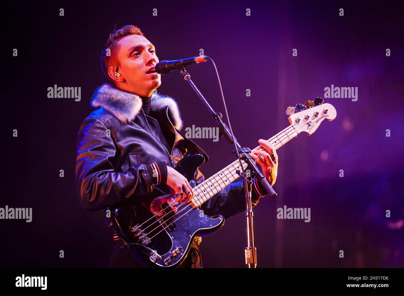
[[[122,37],[118,43],[120,47],[115,53],[120,62],[118,72],[126,82],[116,85],[137,95],[151,96],[161,85],[161,75],[155,71],[150,73],[158,63],[154,45],[140,35]]]

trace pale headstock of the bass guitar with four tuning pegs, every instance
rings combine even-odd
[[[298,133],[305,132],[311,135],[324,120],[334,120],[337,117],[337,110],[331,104],[323,104],[322,98],[316,98],[314,101],[306,101],[304,105],[288,107],[286,114],[290,115],[289,122]]]

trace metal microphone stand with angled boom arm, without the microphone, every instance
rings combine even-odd
[[[217,121],[217,124],[219,125],[219,130],[221,135],[225,136],[227,141],[230,143],[230,145],[234,145],[236,143],[237,147],[237,153],[240,155],[240,159],[244,160],[248,164],[248,168],[252,170],[252,172],[255,173],[257,180],[265,187],[267,192],[272,196],[276,197],[276,192],[274,189],[271,187],[269,182],[265,179],[264,175],[262,172],[255,166],[254,162],[252,161],[252,157],[250,155],[251,150],[248,147],[241,147],[240,144],[238,143],[236,137],[231,136],[231,132],[229,128],[226,126],[226,124],[222,120],[222,114],[215,112],[213,108],[209,105],[208,101],[204,98],[202,93],[199,91],[199,89],[196,87],[194,82],[191,80],[191,75],[185,70],[185,67],[180,71],[181,75],[183,78],[188,81],[189,85],[194,89],[196,94],[202,99],[203,103],[205,104],[206,108],[210,111],[212,114],[213,118]],[[233,154],[238,158],[238,155],[236,154],[236,151],[233,150]],[[254,243],[254,228],[252,225],[252,216],[254,215],[252,212],[252,205],[251,205],[251,192],[252,192],[252,178],[248,176],[244,176],[242,172],[239,170],[236,171],[239,176],[241,176],[244,179],[244,189],[246,193],[246,211],[245,211],[245,217],[246,217],[246,235],[247,235],[247,246],[244,250],[245,252],[245,259],[246,259],[246,264],[248,264],[248,268],[256,268],[257,267],[257,248],[255,247]]]

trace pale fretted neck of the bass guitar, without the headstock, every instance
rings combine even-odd
[[[272,146],[275,147],[276,150],[278,150],[298,134],[299,132],[297,132],[295,126],[292,124],[276,134],[274,137],[268,139],[268,141]],[[263,150],[262,146],[257,146],[254,149]],[[242,161],[242,165],[244,169],[248,167],[244,161]],[[194,188],[194,197],[192,198],[194,205],[199,207],[220,190],[225,188],[228,184],[239,178],[240,176],[236,173],[236,170],[241,171],[240,162],[238,159],[196,186]]]

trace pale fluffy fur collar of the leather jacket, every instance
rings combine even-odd
[[[114,115],[122,123],[128,123],[135,119],[142,107],[142,99],[134,93],[122,91],[110,84],[103,84],[96,89],[91,98],[91,107],[102,107]],[[150,110],[160,111],[169,106],[168,112],[173,118],[173,124],[177,130],[181,130],[183,122],[177,102],[165,95],[160,95],[156,91],[151,95]]]

